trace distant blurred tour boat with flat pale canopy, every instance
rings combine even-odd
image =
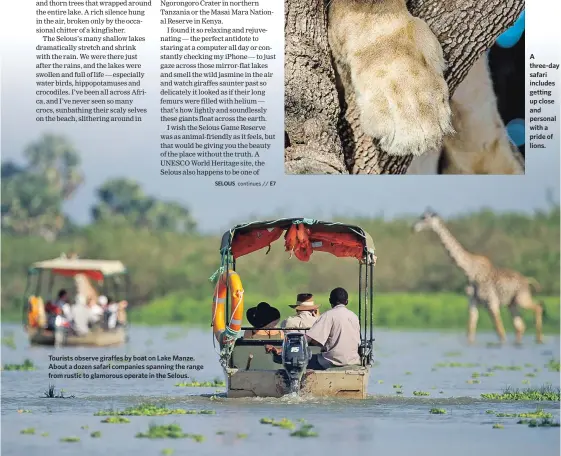
[[[72,279],[73,291],[87,300],[97,300],[100,295],[111,295],[118,304],[117,321],[114,328],[96,326],[85,335],[74,334],[60,316],[55,318],[54,329],[47,328],[47,311],[51,302],[46,296],[54,296],[64,279]],[[97,283],[97,287],[92,284]],[[130,279],[127,268],[120,261],[90,260],[76,256],[38,261],[27,274],[24,294],[23,327],[31,345],[109,347],[128,341],[128,321],[125,299],[129,293]]]

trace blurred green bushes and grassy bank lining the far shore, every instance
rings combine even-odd
[[[120,206],[119,206],[120,207]],[[119,209],[120,210],[120,209]],[[209,277],[220,266],[220,235],[204,235],[196,224],[187,232],[165,226],[139,224],[117,212],[105,211],[87,226],[67,222],[56,239],[2,230],[2,318],[20,322],[27,268],[35,261],[77,253],[81,258],[121,260],[130,271],[128,296],[132,325],[210,325],[214,283]],[[249,217],[251,219],[251,217]],[[275,219],[278,216],[261,217]],[[332,217],[334,221],[361,226],[371,234],[378,263],[374,272],[374,326],[390,329],[465,330],[467,324],[466,278],[452,263],[434,233],[413,233],[415,216],[385,220]],[[142,219],[144,220],[144,219]],[[223,230],[247,220],[227,223]],[[509,268],[536,279],[535,299],[545,303],[544,332],[560,329],[560,210],[494,213],[480,210],[445,220],[466,250],[488,256],[495,266]],[[222,231],[222,230],[217,230]],[[267,250],[237,262],[245,290],[245,308],[267,301],[282,317],[292,313],[297,293],[310,292],[329,309],[329,291],[343,286],[351,293],[350,308],[358,310],[358,264],[316,252],[309,262],[289,259],[282,239]],[[45,281],[48,282],[48,281]],[[72,289],[69,279],[57,279],[58,288]],[[46,298],[49,288],[46,285]],[[533,315],[522,312],[527,332]],[[503,309],[503,320],[512,332],[512,319]],[[480,330],[492,330],[483,311]],[[248,325],[244,322],[244,325]],[[248,325],[249,326],[249,325]]]

